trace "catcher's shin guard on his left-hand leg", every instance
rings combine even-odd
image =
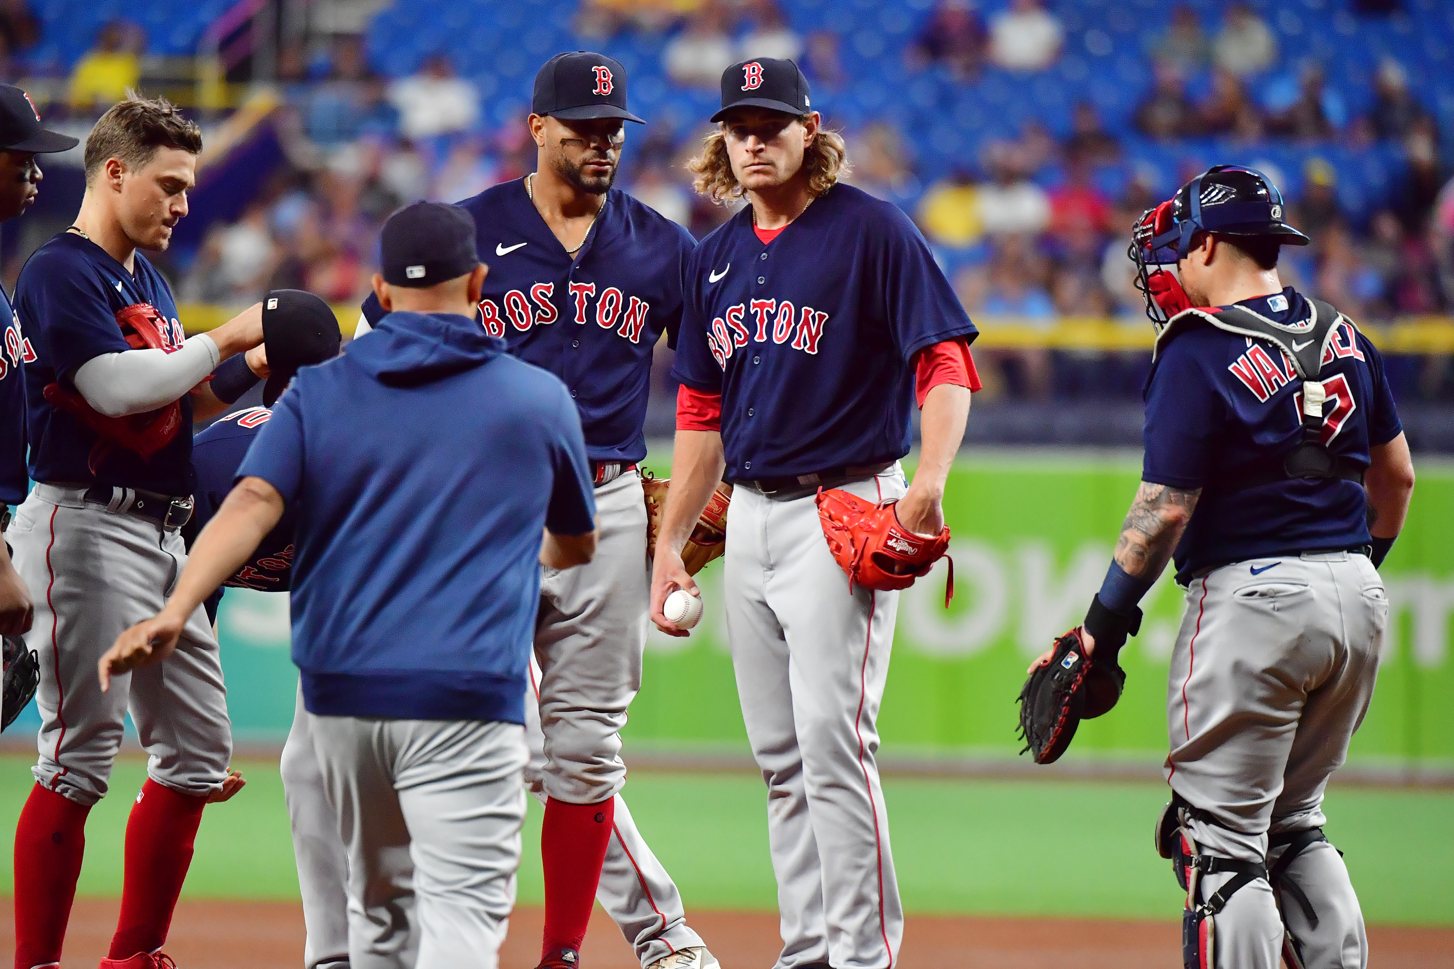
[[[1217,968],[1217,914],[1249,882],[1269,880],[1266,864],[1262,861],[1239,861],[1202,854],[1186,825],[1186,819],[1191,816],[1210,819],[1210,816],[1204,818],[1202,815],[1205,812],[1192,808],[1181,796],[1173,796],[1156,821],[1156,851],[1163,859],[1170,859],[1176,883],[1186,889],[1186,902],[1182,908],[1184,969]],[[1221,873],[1230,873],[1232,877],[1202,901],[1202,876]]]

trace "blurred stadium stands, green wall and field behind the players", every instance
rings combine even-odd
[[[1409,524],[1381,569],[1390,628],[1378,692],[1329,795],[1328,834],[1348,853],[1378,963],[1451,965],[1454,843],[1407,831],[1454,812],[1454,3],[0,0],[0,74],[31,93],[48,126],[84,138],[128,87],[201,122],[190,215],[158,259],[192,331],[289,286],[334,304],[349,336],[382,221],[404,202],[461,200],[532,170],[535,71],[579,48],[625,65],[631,108],[648,122],[628,125],[618,186],[698,238],[731,214],[695,198],[683,170],[721,70],[795,58],[814,106],[848,139],[851,182],[913,216],[981,330],[986,388],[945,497],[955,599],[944,609],[942,567],[901,597],[880,716],[912,915],[906,953],[931,924],[961,927],[941,956],[920,947],[906,965],[1175,962],[1181,896],[1146,834],[1166,800],[1182,591],[1163,577],[1143,601],[1143,632],[1121,654],[1124,699],[1080,728],[1060,764],[1016,757],[1015,696],[1028,658],[1099,587],[1138,479],[1152,328],[1131,288],[1130,227],[1211,164],[1272,176],[1313,238],[1284,250],[1282,276],[1354,317],[1384,353],[1419,471]],[[42,160],[39,203],[0,234],[7,286],[74,216],[80,163],[80,150]],[[670,468],[669,365],[663,343],[647,426],[659,475]],[[647,642],[624,732],[625,795],[694,920],[760,912],[753,928],[714,928],[714,947],[760,938],[771,950],[763,792],[733,681],[721,567],[699,580],[707,615],[694,635]],[[230,590],[220,629],[240,750],[268,760],[246,766],[247,793],[209,809],[188,899],[282,908],[228,909],[214,923],[185,908],[170,944],[196,931],[206,957],[195,965],[224,965],[217,933],[246,924],[246,965],[273,965],[254,952],[260,927],[301,931],[275,767],[297,683],[286,597]],[[29,790],[36,725],[32,706],[0,744],[0,828]],[[118,766],[118,790],[141,770],[134,758]],[[87,917],[99,940],[113,924],[105,907],[121,883],[126,805],[108,798],[90,822],[81,895],[100,905]],[[1085,828],[1093,837],[1076,837]],[[1064,870],[1067,832],[1093,892],[1047,877]],[[0,870],[0,893],[7,877]],[[521,879],[522,905],[538,904],[534,848]],[[1128,923],[1093,938],[1089,923],[1015,923],[1005,930],[1013,943],[990,952],[986,923],[948,921],[990,914],[1157,921],[1138,954],[1106,941],[1128,938]],[[925,915],[935,920],[915,921]],[[1393,925],[1437,928],[1397,936]],[[1011,954],[1041,943],[1069,949]],[[1096,947],[1104,960],[1088,960]],[[632,965],[630,953],[611,962],[601,952],[599,969]]]

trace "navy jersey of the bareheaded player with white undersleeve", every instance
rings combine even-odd
[[[109,484],[161,494],[192,494],[192,398],[182,397],[182,431],[150,461],[124,447],[112,447],[96,472],[89,466],[97,434],[42,395],[49,384],[74,391],[71,379],[83,363],[103,353],[131,347],[121,334],[116,314],[150,304],[170,325],[166,346],[182,346],[186,334],[177,321],[172,288],[161,273],[137,253],[137,270],[112,259],[96,243],[61,232],[41,246],[20,270],[15,291],[16,314],[35,359],[25,365],[31,477],[57,484]]]

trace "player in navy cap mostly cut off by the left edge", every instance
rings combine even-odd
[[[0,84],[0,222],[19,218],[41,190],[35,157],[70,151],[76,138],[45,131],[31,97]],[[10,298],[0,289],[0,533],[10,527],[10,506],[25,501],[31,479],[25,469],[25,363],[35,356],[20,333]],[[0,542],[0,633],[19,636],[31,628],[33,603]],[[9,713],[9,710],[7,710]]]

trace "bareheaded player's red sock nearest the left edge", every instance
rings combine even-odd
[[[86,853],[81,806],[41,784],[31,789],[15,825],[15,965],[61,960],[65,923]]]

